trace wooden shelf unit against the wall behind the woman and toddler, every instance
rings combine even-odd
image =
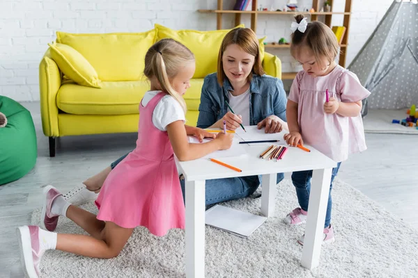
[[[333,8],[333,0],[328,0]],[[313,0],[312,7],[317,11],[315,13],[309,12],[277,12],[270,10],[257,10],[258,0],[251,0],[251,10],[224,10],[224,0],[217,0],[216,10],[197,10],[199,13],[215,13],[217,15],[217,30],[222,29],[222,15],[224,14],[235,14],[235,26],[241,24],[241,15],[249,14],[251,16],[251,29],[256,32],[257,30],[257,19],[258,15],[307,15],[311,17],[311,21],[318,20],[318,16],[324,16],[324,23],[331,28],[332,15],[343,15],[343,26],[346,27],[346,33],[341,42],[341,53],[339,56],[339,65],[345,67],[346,65],[346,54],[348,47],[348,33],[350,30],[350,19],[351,19],[351,4],[352,0],[346,0],[345,8],[343,12],[318,12],[320,10],[320,1]],[[290,26],[290,24],[289,24]],[[265,47],[286,49],[291,47],[290,44],[265,44]],[[295,72],[283,72],[281,79],[294,79],[296,76]]]

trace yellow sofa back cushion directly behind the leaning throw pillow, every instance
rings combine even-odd
[[[79,51],[102,81],[145,80],[145,54],[154,40],[155,29],[144,33],[56,32],[56,42]]]

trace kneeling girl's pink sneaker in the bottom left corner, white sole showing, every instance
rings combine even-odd
[[[39,227],[23,226],[16,229],[20,245],[20,261],[26,277],[38,278],[40,276],[40,258],[45,253],[39,244]]]

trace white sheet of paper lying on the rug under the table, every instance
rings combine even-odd
[[[205,214],[206,224],[242,237],[251,235],[267,220],[264,216],[219,205],[212,206]]]

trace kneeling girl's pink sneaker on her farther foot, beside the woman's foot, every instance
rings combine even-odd
[[[58,224],[59,215],[55,215],[51,212],[52,202],[58,196],[62,194],[59,193],[56,188],[53,186],[46,186],[43,190],[43,203],[42,203],[42,213],[40,213],[40,227],[42,229],[47,229],[48,231],[55,231],[56,225]]]

